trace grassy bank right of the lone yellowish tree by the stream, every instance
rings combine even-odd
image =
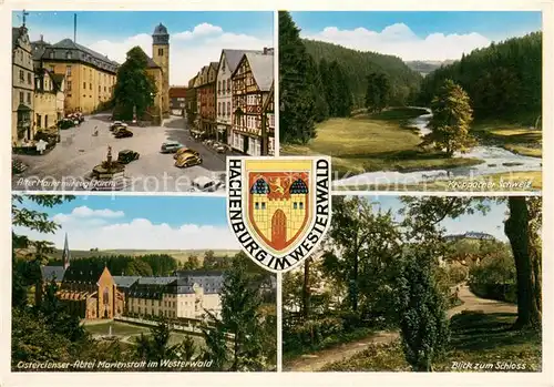
[[[543,155],[541,130],[524,128],[517,123],[484,121],[475,123],[472,133],[482,143],[499,145],[521,155],[532,157]]]

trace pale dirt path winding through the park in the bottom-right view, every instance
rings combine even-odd
[[[516,313],[517,306],[494,299],[484,299],[471,293],[469,286],[459,286],[458,297],[463,302],[448,312],[452,317],[463,310],[483,313]],[[322,349],[315,354],[301,355],[299,358],[284,365],[288,371],[317,371],[326,365],[350,358],[377,343],[391,343],[399,337],[398,332],[380,332],[365,337],[361,340],[341,344],[339,346]]]

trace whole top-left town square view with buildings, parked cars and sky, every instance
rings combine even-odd
[[[12,187],[223,192],[226,155],[274,154],[273,14],[222,14],[127,12],[121,42],[90,31],[124,12],[14,12]]]

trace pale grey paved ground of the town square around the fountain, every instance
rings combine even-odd
[[[79,186],[47,185],[48,182],[85,181],[92,169],[106,160],[107,146],[112,147],[115,161],[117,153],[131,150],[140,153],[140,159],[125,166],[127,185],[124,191],[132,192],[186,192],[198,176],[218,180],[225,171],[225,154],[216,153],[202,142],[191,138],[183,118],[172,116],[163,126],[130,126],[134,135],[114,139],[110,132],[107,114],[89,115],[81,125],[61,130],[61,142],[45,155],[17,155],[29,167],[12,177],[13,190],[33,191],[83,191]],[[98,136],[93,133],[98,128]],[[197,151],[203,162],[186,169],[174,166],[173,154],[160,152],[162,143],[178,141],[186,147]],[[39,183],[29,184],[29,181]],[[62,183],[63,184],[63,183]]]

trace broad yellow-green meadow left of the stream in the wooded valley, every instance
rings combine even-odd
[[[348,172],[409,172],[480,163],[476,159],[448,157],[420,147],[421,138],[406,123],[423,113],[418,109],[393,109],[380,114],[330,119],[317,125],[317,138],[307,145],[283,145],[281,154],[330,155],[336,177]]]

